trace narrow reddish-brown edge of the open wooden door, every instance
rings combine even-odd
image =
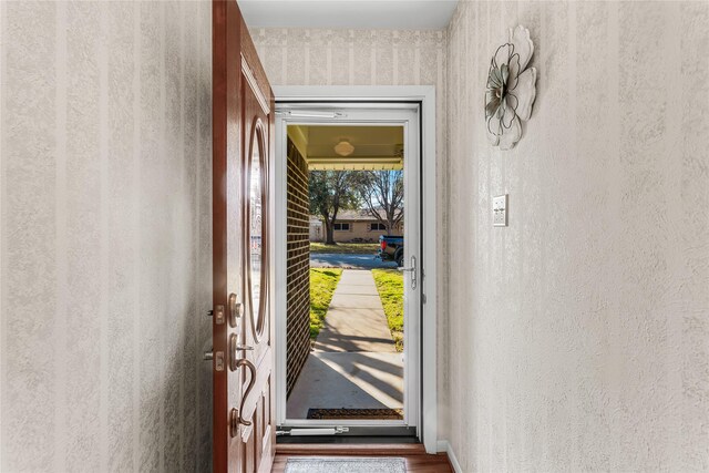
[[[240,289],[240,236],[233,222],[240,218],[240,99],[234,66],[239,54],[239,12],[234,1],[213,3],[213,451],[215,472],[238,472],[233,451],[232,409],[238,403],[240,371],[229,369],[229,337],[239,336],[243,323],[232,327],[229,294]],[[238,71],[238,69],[237,69]],[[238,220],[237,220],[238,222]],[[238,442],[237,442],[238,444]]]

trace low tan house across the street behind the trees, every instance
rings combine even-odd
[[[383,217],[382,210],[382,219]],[[367,210],[340,210],[335,222],[335,241],[337,243],[377,243],[380,235],[401,235],[403,218],[391,230]],[[316,216],[310,217],[310,241],[325,240],[325,223]]]

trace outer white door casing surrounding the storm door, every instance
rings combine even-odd
[[[422,270],[419,271],[422,285],[422,339],[421,339],[421,418],[419,432],[428,453],[436,452],[438,435],[438,381],[436,381],[436,187],[435,187],[435,88],[432,85],[415,86],[274,86],[276,102],[419,102],[421,104],[421,161],[422,184],[422,239],[423,255]],[[277,120],[277,126],[279,121]],[[285,148],[276,133],[276,156],[284,156]],[[279,165],[279,163],[281,165]],[[286,173],[282,161],[277,158],[276,166],[271,167],[271,202],[285,202],[286,199]],[[276,205],[271,212],[271,228],[275,229],[275,238],[271,239],[271,254],[276,261],[286,260],[285,239],[285,206]],[[279,230],[280,229],[280,230]],[[408,265],[409,261],[405,261]],[[275,265],[282,266],[282,265]],[[285,277],[285,267],[276,268],[276,284],[274,291],[274,309],[276,313],[286,312],[286,287],[280,279]],[[282,319],[282,318],[281,318]],[[276,379],[286,379],[286,347],[285,323],[276,326]],[[281,390],[278,390],[280,392]],[[285,391],[285,390],[284,390]],[[285,412],[278,409],[277,397],[277,423],[285,421]]]

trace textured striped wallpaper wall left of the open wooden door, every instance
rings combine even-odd
[[[210,3],[0,9],[0,470],[209,471]]]

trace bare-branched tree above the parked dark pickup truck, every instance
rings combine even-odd
[[[367,213],[393,233],[403,218],[403,171],[361,172],[357,187]]]

